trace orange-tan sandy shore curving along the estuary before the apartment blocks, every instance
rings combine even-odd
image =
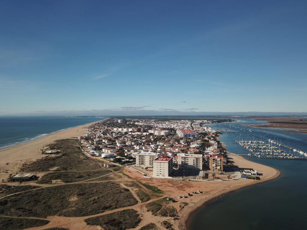
[[[179,220],[171,220],[175,229],[186,229],[186,222],[188,221],[188,216],[197,208],[204,205],[205,202],[219,197],[225,193],[228,193],[245,186],[254,185],[256,183],[268,181],[274,178],[277,178],[280,172],[277,169],[268,167],[262,164],[258,164],[252,161],[249,161],[242,156],[229,154],[229,157],[234,162],[235,165],[238,165],[240,168],[253,168],[257,170],[258,173],[263,174],[260,177],[260,180],[252,179],[239,179],[239,180],[229,180],[229,181],[181,181],[181,180],[167,180],[167,179],[152,179],[152,178],[143,178],[141,174],[136,171],[133,171],[130,168],[125,168],[124,172],[130,177],[142,181],[144,183],[157,186],[159,189],[163,190],[165,194],[169,197],[172,197],[179,202],[172,203],[172,205],[179,210]],[[188,193],[192,194],[193,191],[200,190],[203,193],[193,194],[191,197],[187,198],[178,198],[179,195],[187,196]],[[182,205],[181,202],[187,202],[188,205],[184,208],[181,208],[179,205]],[[156,218],[156,217],[154,217]],[[169,220],[169,217],[159,217],[160,221]]]

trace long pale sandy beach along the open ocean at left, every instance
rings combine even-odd
[[[53,141],[59,139],[82,136],[87,133],[87,127],[95,123],[97,123],[97,121],[86,125],[80,125],[74,128],[61,130],[59,132],[54,132],[24,144],[1,149],[0,181],[2,181],[2,179],[6,180],[9,174],[16,174],[18,168],[23,163],[32,162],[45,157],[46,155],[40,154],[40,149],[44,148],[45,145],[51,144]]]

